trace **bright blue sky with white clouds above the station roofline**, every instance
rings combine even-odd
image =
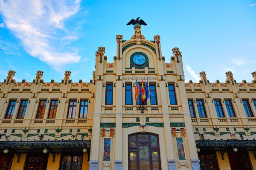
[[[157,4],[156,4],[157,2]],[[116,55],[116,35],[129,40],[131,19],[141,17],[147,40],[161,35],[162,54],[169,62],[172,48],[183,54],[186,82],[224,82],[233,71],[237,82],[250,82],[256,71],[256,0],[0,0],[0,82],[9,70],[16,81],[71,79],[89,82],[95,51],[105,46],[108,62]]]

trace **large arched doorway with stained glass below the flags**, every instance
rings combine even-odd
[[[129,170],[161,170],[158,135],[134,133],[128,136]]]

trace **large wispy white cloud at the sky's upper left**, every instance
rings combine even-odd
[[[25,51],[60,71],[67,63],[79,62],[81,57],[66,48],[59,49],[58,30],[64,21],[77,14],[81,0],[0,0],[0,13],[6,28],[12,30],[22,42]],[[64,35],[65,37],[65,35]],[[67,36],[69,37],[69,36]],[[70,40],[76,40],[75,38]],[[8,46],[0,43],[8,51]],[[7,48],[7,49],[6,49]]]

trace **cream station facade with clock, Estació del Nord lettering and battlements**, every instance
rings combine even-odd
[[[0,83],[3,170],[256,170],[256,72],[253,80],[184,81],[182,54],[167,63],[160,36],[140,25],[116,36],[116,56],[96,51],[89,83]],[[135,81],[150,98],[136,101]],[[141,91],[140,91],[141,96]],[[144,113],[141,113],[144,112]]]

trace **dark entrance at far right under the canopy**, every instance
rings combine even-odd
[[[252,170],[247,151],[227,153],[231,170]]]

